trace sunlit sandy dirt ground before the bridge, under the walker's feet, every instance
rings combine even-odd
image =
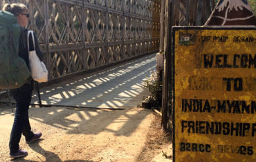
[[[28,156],[13,160],[8,141],[14,114],[3,105],[0,112],[1,161],[143,161],[155,120],[152,110],[143,108],[30,108],[30,124],[43,133],[42,140],[28,145],[22,136],[20,147]]]

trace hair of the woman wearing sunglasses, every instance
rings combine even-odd
[[[14,14],[16,17],[21,14],[22,12],[28,12],[28,8],[26,7],[26,5],[22,4],[22,3],[6,3],[3,6],[3,11],[8,11],[11,12],[12,14]]]

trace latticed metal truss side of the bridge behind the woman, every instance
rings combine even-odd
[[[49,79],[158,50],[160,0],[0,0],[25,3]]]

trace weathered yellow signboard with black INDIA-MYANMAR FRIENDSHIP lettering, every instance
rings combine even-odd
[[[174,161],[256,161],[256,28],[174,28]]]

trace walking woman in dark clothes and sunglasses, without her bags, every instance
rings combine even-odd
[[[22,3],[12,3],[5,4],[3,6],[3,11],[11,12],[17,17],[17,23],[21,26],[21,34],[19,37],[19,57],[26,61],[26,64],[29,68],[29,60],[28,60],[28,50],[34,50],[33,48],[33,40],[32,36],[29,37],[29,47],[27,43],[27,34],[28,30],[26,26],[28,26],[28,8]],[[43,53],[39,48],[37,37],[35,36],[35,50],[37,52],[37,56],[42,61]],[[30,122],[28,119],[28,108],[30,105],[30,101],[32,98],[34,81],[32,77],[28,79],[28,82],[21,86],[21,88],[10,90],[12,97],[16,101],[16,112],[15,119],[12,125],[12,131],[10,133],[10,156],[12,158],[18,158],[22,156],[28,155],[26,150],[21,150],[19,148],[19,141],[21,139],[21,134],[25,136],[26,143],[32,143],[35,140],[38,140],[41,136],[41,132],[32,132],[30,127]]]

